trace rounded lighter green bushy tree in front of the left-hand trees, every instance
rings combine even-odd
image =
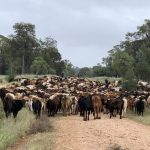
[[[48,74],[49,66],[42,57],[35,57],[31,65],[31,72],[36,75]]]

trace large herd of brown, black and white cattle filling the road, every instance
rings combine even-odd
[[[6,117],[27,107],[36,118],[47,114],[55,116],[62,112],[63,116],[77,115],[83,120],[101,119],[101,113],[120,119],[126,110],[142,115],[145,107],[150,106],[149,90],[127,92],[119,87],[118,82],[105,83],[91,81],[79,77],[44,76],[34,79],[21,79],[0,89],[0,97]]]

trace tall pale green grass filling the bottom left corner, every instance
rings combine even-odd
[[[34,115],[25,108],[18,113],[16,121],[13,118],[0,119],[0,150],[6,150],[24,136],[34,119]]]

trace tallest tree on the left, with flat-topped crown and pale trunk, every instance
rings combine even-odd
[[[35,35],[35,25],[30,23],[16,23],[13,26],[15,35],[11,35],[14,52],[20,57],[22,64],[22,74],[29,72],[29,67],[33,60],[33,54],[36,50],[37,40]]]

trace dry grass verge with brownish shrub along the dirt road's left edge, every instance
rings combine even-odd
[[[25,142],[23,142],[22,145],[17,147],[17,149],[19,150],[55,149],[56,145],[55,138],[57,130],[53,128],[53,120],[54,118],[50,119],[47,116],[41,117],[41,119],[37,119],[30,127]],[[37,125],[35,126],[35,124]]]

